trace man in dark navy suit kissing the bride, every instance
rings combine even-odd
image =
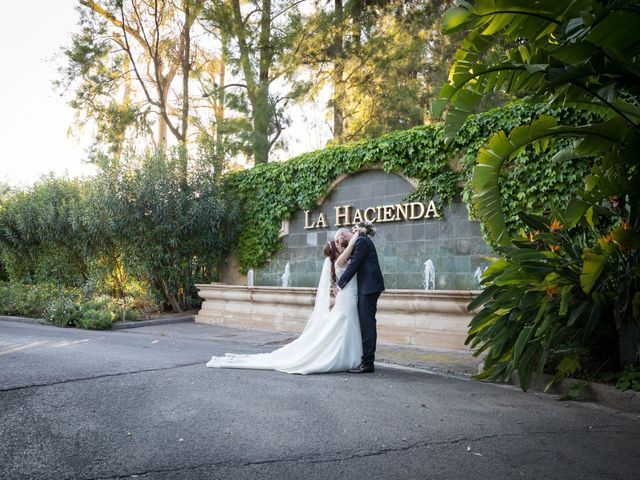
[[[354,227],[355,228],[355,227]],[[336,242],[347,246],[353,236],[346,228],[336,233]],[[362,362],[349,373],[372,373],[376,352],[376,309],[378,298],[384,291],[384,280],[378,263],[378,254],[373,242],[366,235],[359,236],[351,254],[347,269],[338,281],[338,288],[345,287],[355,274],[358,274],[358,317],[362,334]]]

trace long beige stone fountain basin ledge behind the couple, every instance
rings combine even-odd
[[[196,285],[204,299],[196,322],[249,330],[301,333],[313,310],[315,288]],[[378,341],[391,345],[468,350],[473,313],[467,305],[479,291],[387,290],[378,301]]]

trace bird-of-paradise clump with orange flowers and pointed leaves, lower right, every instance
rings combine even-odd
[[[517,370],[526,390],[534,374],[545,370],[554,372],[555,382],[585,363],[617,364],[617,319],[626,324],[633,316],[628,292],[638,285],[628,273],[639,268],[638,255],[613,240],[622,226],[603,222],[610,233],[601,242],[611,255],[585,288],[584,250],[597,232],[567,225],[567,218],[559,212],[556,218],[523,214],[528,237],[501,247],[503,257],[485,271],[486,288],[469,305],[483,307],[467,339],[476,355],[486,352],[478,378],[505,380]]]

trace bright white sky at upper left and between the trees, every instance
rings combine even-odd
[[[61,48],[76,30],[76,0],[5,1],[0,28],[0,181],[26,187],[43,175],[95,172],[83,162],[88,135],[69,136],[74,112],[52,82],[63,64]],[[25,8],[28,5],[28,9]],[[285,159],[321,148],[328,138],[320,102],[291,110]]]

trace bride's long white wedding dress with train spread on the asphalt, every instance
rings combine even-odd
[[[340,276],[345,269],[336,267]],[[358,321],[358,283],[354,276],[330,308],[331,260],[322,268],[313,312],[302,334],[270,353],[212,357],[207,367],[278,370],[286,373],[340,372],[360,364],[362,338]]]

